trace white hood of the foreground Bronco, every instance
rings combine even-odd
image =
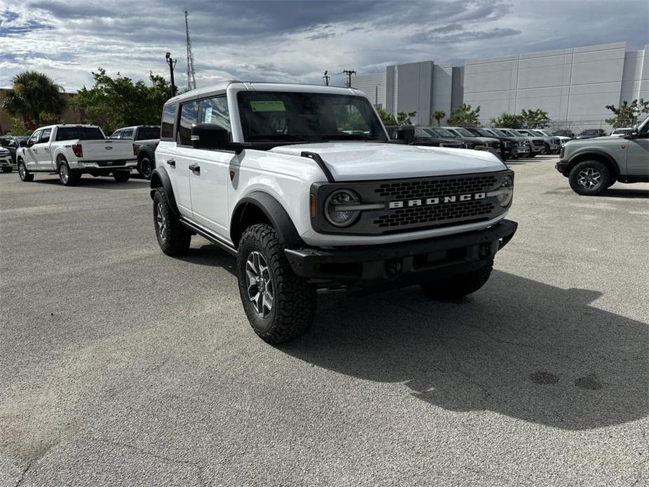
[[[319,154],[336,181],[424,178],[507,169],[490,152],[380,142],[283,145],[270,152],[300,156],[305,151]]]

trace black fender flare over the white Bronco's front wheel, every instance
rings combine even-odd
[[[283,244],[287,246],[303,246],[305,243],[297,233],[293,220],[277,201],[274,196],[262,191],[253,191],[248,196],[242,198],[234,207],[232,218],[230,220],[230,238],[235,246],[239,246],[239,238],[243,233],[244,228],[241,228],[243,216],[246,213],[246,208],[255,206],[259,208],[262,213],[269,220]]]

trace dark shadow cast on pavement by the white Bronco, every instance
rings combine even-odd
[[[648,415],[647,325],[591,305],[601,293],[494,272],[478,293],[417,288],[321,298],[312,332],[278,347],[330,371],[403,382],[450,411],[494,411],[563,429]]]

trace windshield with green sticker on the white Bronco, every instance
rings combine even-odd
[[[387,141],[372,105],[361,96],[241,91],[237,101],[246,142]]]

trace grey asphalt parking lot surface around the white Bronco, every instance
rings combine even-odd
[[[146,181],[0,174],[0,485],[643,484],[649,184],[555,161],[511,164],[481,291],[325,295],[279,347],[232,257],[159,251]]]

